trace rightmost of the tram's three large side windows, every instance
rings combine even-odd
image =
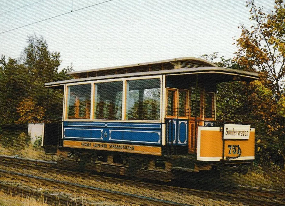
[[[127,120],[160,119],[160,79],[127,81]]]

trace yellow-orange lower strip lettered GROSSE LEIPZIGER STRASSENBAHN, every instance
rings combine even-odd
[[[97,150],[106,150],[114,152],[129,152],[129,153],[161,156],[161,147],[153,147],[153,146],[114,144],[106,142],[71,141],[71,140],[64,140],[63,146],[71,148],[86,148],[86,149],[97,149]]]

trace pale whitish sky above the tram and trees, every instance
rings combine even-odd
[[[0,13],[39,0],[0,0]],[[0,15],[0,33],[104,0],[45,0]],[[268,11],[274,0],[256,0]],[[0,34],[0,55],[18,58],[28,35],[42,35],[74,70],[199,57],[215,51],[232,58],[246,0],[113,0]]]

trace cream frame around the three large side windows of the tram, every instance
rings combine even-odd
[[[129,80],[139,80],[139,79],[160,79],[160,119],[159,120],[126,120],[126,97],[127,97],[127,81]],[[123,81],[123,91],[122,91],[122,119],[120,120],[105,120],[105,119],[94,119],[94,104],[95,104],[95,89],[94,84],[96,83],[104,83],[104,82],[118,82]],[[81,84],[91,84],[91,108],[90,108],[90,119],[77,120],[77,119],[67,119],[67,96],[68,86],[73,85],[81,85]],[[140,76],[140,77],[127,77],[127,78],[114,78],[114,79],[100,79],[100,80],[91,80],[86,82],[75,82],[75,83],[67,83],[64,86],[65,96],[64,96],[64,117],[63,121],[92,121],[92,122],[145,122],[145,123],[161,123],[162,120],[162,112],[163,112],[163,75],[154,75],[154,76]]]

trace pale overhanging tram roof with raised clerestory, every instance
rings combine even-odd
[[[156,65],[156,67],[154,67]],[[146,66],[149,66],[149,70],[145,71]],[[161,68],[160,68],[161,66]],[[169,67],[171,66],[171,67]],[[187,67],[187,68],[185,68]],[[137,70],[129,70],[128,68],[137,68]],[[140,69],[142,68],[142,69]],[[158,70],[157,68],[160,68]],[[113,74],[117,69],[126,69],[125,73]],[[164,69],[164,70],[163,70]],[[110,71],[112,71],[110,73]],[[117,70],[118,71],[118,70]],[[99,75],[97,72],[101,72]],[[90,75],[88,76],[88,73]],[[91,74],[96,74],[91,75]],[[215,82],[230,82],[230,81],[246,81],[250,82],[259,79],[259,75],[254,72],[246,72],[237,69],[221,68],[217,65],[199,58],[176,58],[163,61],[147,62],[142,64],[125,65],[118,67],[108,67],[100,69],[91,69],[85,71],[69,72],[75,79],[69,79],[58,82],[49,82],[45,84],[45,87],[53,87],[55,89],[62,89],[64,84],[87,82],[92,80],[102,79],[119,79],[127,77],[139,77],[139,76],[151,76],[151,75],[193,75],[198,74],[201,78],[211,78],[215,76]]]

